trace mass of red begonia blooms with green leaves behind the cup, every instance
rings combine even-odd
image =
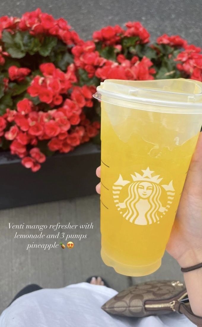
[[[166,34],[149,43],[139,22],[107,26],[84,42],[40,9],[0,18],[0,147],[37,171],[99,133],[92,95],[105,78],[202,81],[201,49]]]

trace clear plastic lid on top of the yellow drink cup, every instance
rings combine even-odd
[[[166,112],[202,113],[202,82],[192,79],[105,79],[97,87],[94,97],[131,108],[136,108],[139,104],[141,109],[142,105],[146,105],[144,110],[154,110],[154,107],[158,107],[156,111],[165,112],[167,108]]]

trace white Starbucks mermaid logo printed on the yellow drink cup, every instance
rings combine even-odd
[[[142,175],[137,172],[131,175],[132,181],[123,180],[119,175],[118,180],[113,184],[112,191],[115,206],[130,223],[137,225],[159,223],[160,218],[166,214],[173,202],[175,195],[173,181],[170,181],[168,185],[162,185],[163,178],[155,175],[149,167],[141,171]],[[122,192],[126,195],[124,200],[121,196]],[[162,195],[164,198],[167,196],[166,206],[162,206]]]

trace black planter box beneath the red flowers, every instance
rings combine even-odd
[[[67,154],[48,157],[38,172],[9,152],[0,153],[0,209],[95,194],[100,146],[86,143]]]

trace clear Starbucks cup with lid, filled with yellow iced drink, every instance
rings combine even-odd
[[[202,83],[108,79],[101,100],[101,257],[123,275],[161,265],[202,125]]]

